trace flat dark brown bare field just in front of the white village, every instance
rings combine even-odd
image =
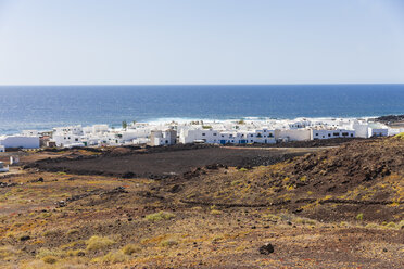
[[[195,145],[177,149],[132,150],[115,149],[108,154],[66,156],[42,159],[29,167],[48,171],[64,171],[80,175],[108,175],[117,177],[175,176],[206,165],[260,166],[270,165],[319,149],[243,149]]]

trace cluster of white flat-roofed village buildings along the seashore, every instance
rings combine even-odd
[[[305,141],[332,138],[371,138],[394,136],[404,129],[389,128],[370,119],[298,118],[241,119],[125,124],[56,127],[51,131],[25,130],[15,136],[0,136],[0,152],[8,148],[171,145],[176,143],[253,144]]]

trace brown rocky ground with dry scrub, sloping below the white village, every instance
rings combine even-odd
[[[228,150],[237,162],[203,162],[205,148],[22,156],[26,169],[0,176],[0,267],[402,268],[403,138],[298,154]],[[193,161],[169,177],[74,170],[81,162],[130,157],[130,169],[121,168],[135,174],[147,163],[139,156],[185,152],[182,161]],[[247,162],[257,155],[274,162]],[[49,158],[74,165],[51,170],[41,166],[53,164]],[[172,161],[156,157],[153,165],[176,167]]]

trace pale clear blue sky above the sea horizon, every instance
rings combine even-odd
[[[0,85],[404,84],[402,0],[0,0]]]

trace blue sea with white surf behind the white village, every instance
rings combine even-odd
[[[389,114],[404,114],[404,85],[0,87],[0,133],[123,120]]]

